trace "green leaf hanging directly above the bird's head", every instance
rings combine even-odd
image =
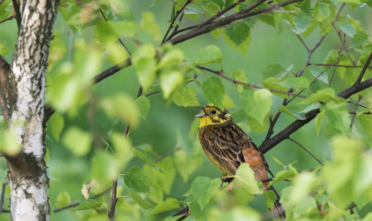
[[[222,108],[222,100],[225,95],[225,87],[218,77],[209,77],[202,83],[202,91],[209,103]]]

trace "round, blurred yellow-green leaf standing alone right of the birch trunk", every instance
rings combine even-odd
[[[70,126],[63,136],[65,147],[77,156],[85,156],[90,151],[92,134],[82,131],[77,126]]]

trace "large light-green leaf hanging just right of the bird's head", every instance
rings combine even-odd
[[[267,89],[244,90],[239,96],[244,111],[260,124],[263,124],[265,116],[270,111],[271,97],[272,94]]]

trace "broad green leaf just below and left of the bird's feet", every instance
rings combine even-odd
[[[221,186],[221,180],[211,179],[205,176],[198,176],[191,183],[191,187],[188,193],[192,194],[196,201],[198,201],[200,207],[205,208],[209,201],[212,199],[214,194],[219,190]]]

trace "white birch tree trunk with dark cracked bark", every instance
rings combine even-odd
[[[5,156],[11,190],[11,218],[15,221],[50,220],[44,92],[58,3],[58,0],[23,1],[22,19],[18,19],[17,54],[13,55],[12,65],[7,65],[0,56],[0,105],[21,148],[16,156]],[[9,67],[12,70],[8,70]]]

